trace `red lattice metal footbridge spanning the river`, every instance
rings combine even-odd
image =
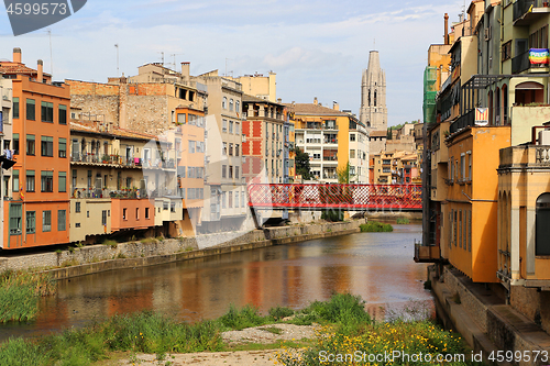
[[[422,210],[420,185],[250,185],[254,210]]]

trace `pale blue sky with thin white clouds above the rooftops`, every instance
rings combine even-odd
[[[54,80],[107,82],[162,62],[191,75],[277,74],[283,102],[338,101],[359,115],[361,75],[372,49],[386,71],[388,124],[422,118],[430,44],[443,41],[443,14],[457,22],[463,0],[88,0],[73,16],[13,36],[0,4],[0,59],[21,47],[23,63]],[[52,49],[52,56],[51,56]],[[175,55],[175,56],[174,56]]]

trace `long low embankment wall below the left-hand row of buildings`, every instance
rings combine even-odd
[[[268,228],[245,232],[216,233],[196,237],[142,240],[117,245],[90,245],[70,251],[0,257],[4,270],[43,269],[55,278],[70,278],[100,271],[153,266],[177,260],[202,258],[271,245],[345,235],[360,231],[365,219],[336,223],[316,223]]]

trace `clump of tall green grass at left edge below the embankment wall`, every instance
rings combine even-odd
[[[50,275],[30,271],[6,271],[0,275],[0,322],[30,321],[38,313],[38,299],[55,293]]]

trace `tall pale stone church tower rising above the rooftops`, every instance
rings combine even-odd
[[[363,70],[360,121],[369,132],[387,130],[386,73],[380,67],[377,51],[371,51],[369,67]]]

